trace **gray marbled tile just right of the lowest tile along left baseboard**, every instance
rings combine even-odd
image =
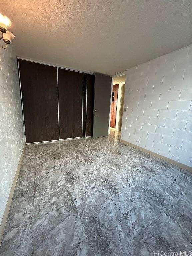
[[[76,215],[77,209],[68,189],[34,198],[33,248],[54,236]]]

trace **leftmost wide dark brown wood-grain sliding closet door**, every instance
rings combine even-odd
[[[57,68],[19,60],[26,142],[59,139]]]

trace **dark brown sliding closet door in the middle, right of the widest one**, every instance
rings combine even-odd
[[[58,68],[60,139],[82,137],[83,73]]]

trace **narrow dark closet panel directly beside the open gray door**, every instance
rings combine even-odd
[[[86,136],[93,135],[93,105],[95,76],[87,74]]]

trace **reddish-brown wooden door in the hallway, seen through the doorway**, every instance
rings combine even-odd
[[[112,128],[115,128],[115,123],[116,123],[118,90],[119,90],[119,84],[114,84],[113,92],[112,92],[111,122],[110,122],[110,127]]]

